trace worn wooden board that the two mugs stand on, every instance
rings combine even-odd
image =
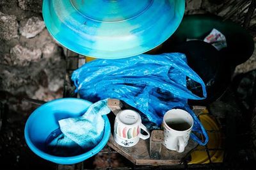
[[[108,106],[114,113],[122,110],[122,104],[120,100],[109,99]],[[205,107],[196,106],[194,108],[196,111],[200,112],[205,109]],[[150,143],[151,142],[151,143]],[[151,144],[151,146],[150,146]],[[132,147],[123,147],[117,144],[113,138],[110,136],[108,141],[108,146],[116,150],[118,153],[123,155],[125,158],[130,160],[133,164],[139,166],[173,166],[180,163],[188,153],[196,147],[197,143],[189,139],[188,146],[186,146],[184,152],[178,153],[177,151],[168,150],[163,145],[163,131],[153,130],[150,139],[143,140],[140,139],[139,143]],[[151,154],[150,154],[151,147]],[[151,155],[151,157],[150,157]],[[156,155],[156,156],[154,156]]]

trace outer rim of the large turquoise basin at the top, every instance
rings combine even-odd
[[[169,0],[171,1],[171,0]],[[170,38],[170,36],[173,35],[173,33],[175,33],[175,31],[177,30],[177,28],[179,27],[180,23],[182,22],[182,19],[184,17],[184,12],[185,12],[185,1],[184,0],[178,0],[178,1],[182,1],[180,3],[180,8],[182,9],[182,11],[180,11],[182,13],[182,15],[179,17],[177,23],[176,23],[176,26],[175,26],[175,29],[172,29],[172,31],[170,31],[170,33],[168,33],[168,35],[166,34],[166,37],[159,43],[155,44],[155,45],[150,45],[148,46],[147,49],[136,49],[136,48],[132,48],[132,49],[126,49],[126,51],[120,51],[118,50],[117,52],[109,52],[109,54],[106,54],[106,51],[101,51],[99,50],[97,52],[97,55],[99,56],[95,56],[95,55],[90,55],[86,52],[84,52],[84,50],[81,50],[77,47],[70,47],[70,45],[68,45],[69,42],[65,41],[65,40],[62,40],[63,38],[61,37],[58,37],[56,35],[54,35],[52,33],[52,29],[51,29],[51,17],[49,17],[49,11],[47,11],[47,5],[45,4],[45,1],[43,1],[43,4],[42,4],[42,15],[43,15],[43,19],[44,19],[44,22],[45,22],[45,27],[47,28],[47,31],[49,32],[49,34],[52,36],[52,38],[58,42],[61,46],[65,47],[66,49],[69,49],[69,50],[72,50],[73,52],[76,52],[77,54],[81,54],[83,56],[88,56],[88,57],[91,57],[91,58],[99,58],[99,59],[120,59],[120,58],[129,58],[129,57],[132,57],[132,56],[137,56],[137,55],[140,55],[140,54],[143,54],[145,52],[148,52],[156,47],[158,47],[159,45],[161,45],[163,42],[165,42],[166,40],[168,40],[168,38]],[[150,43],[150,42],[148,42]],[[92,51],[95,51],[95,50],[92,50]],[[128,52],[127,52],[128,51]],[[131,51],[134,51],[132,52],[131,54]],[[122,53],[122,56],[116,56],[116,54],[120,54]]]

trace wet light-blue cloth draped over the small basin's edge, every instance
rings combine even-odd
[[[102,115],[108,114],[109,112],[107,98],[90,105],[83,116],[60,120],[61,132],[55,132],[56,138],[48,146],[51,148],[51,152],[60,155],[61,148],[68,148],[66,154],[62,155],[70,155],[71,148],[80,146],[84,151],[94,148],[104,135],[104,120]],[[72,153],[72,155],[75,154]]]

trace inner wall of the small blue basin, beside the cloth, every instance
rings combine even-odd
[[[28,137],[36,148],[45,151],[45,140],[57,128],[58,121],[64,118],[81,116],[91,105],[86,100],[53,100],[38,107],[26,123]]]

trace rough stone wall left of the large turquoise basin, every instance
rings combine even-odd
[[[0,2],[0,101],[26,112],[24,97],[62,97],[65,58],[45,28],[42,0]]]

